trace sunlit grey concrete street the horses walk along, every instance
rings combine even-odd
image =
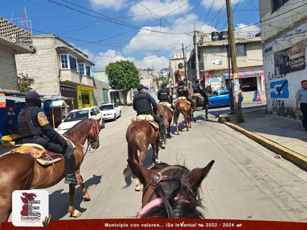
[[[251,104],[243,103],[243,107]],[[190,132],[184,128],[181,115],[183,132],[177,136],[175,126],[172,127],[173,139],[168,140],[166,149],[159,151],[159,159],[169,164],[185,164],[190,169],[215,160],[201,187],[207,218],[307,222],[306,171],[285,159],[274,158],[273,152],[218,122],[218,115],[227,110],[210,109],[207,121],[204,110],[194,113],[197,122],[192,123]],[[142,192],[134,191],[135,179],[124,188],[123,177],[127,165],[126,128],[134,115],[132,106],[122,108],[122,117],[107,122],[100,132],[100,148],[85,156],[81,174],[91,201],[83,201],[79,186],[75,208],[82,212],[80,218],[126,218],[140,211]],[[149,148],[145,167],[151,165],[151,158]],[[71,218],[67,213],[68,186],[64,181],[47,190],[52,218]]]

